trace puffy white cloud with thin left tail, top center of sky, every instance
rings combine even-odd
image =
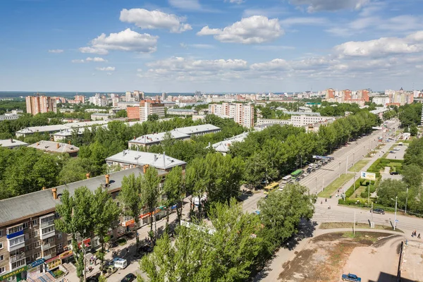
[[[252,16],[223,29],[209,28],[207,25],[197,35],[214,35],[214,39],[220,42],[258,44],[280,37],[283,29],[277,18],[269,20],[264,16]]]

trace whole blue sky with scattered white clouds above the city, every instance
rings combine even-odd
[[[1,0],[0,90],[422,90],[422,12],[422,0]]]

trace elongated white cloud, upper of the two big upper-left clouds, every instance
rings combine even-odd
[[[143,8],[123,9],[120,20],[125,23],[134,23],[143,29],[164,28],[174,33],[192,30],[191,25],[185,22],[186,18],[161,11],[148,11]]]

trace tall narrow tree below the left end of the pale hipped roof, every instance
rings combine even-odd
[[[145,197],[142,197],[142,176],[135,178],[134,173],[129,176],[123,176],[119,200],[123,204],[123,214],[133,217],[135,226],[140,226],[141,209],[145,204]],[[140,245],[140,238],[136,236],[137,249]]]

